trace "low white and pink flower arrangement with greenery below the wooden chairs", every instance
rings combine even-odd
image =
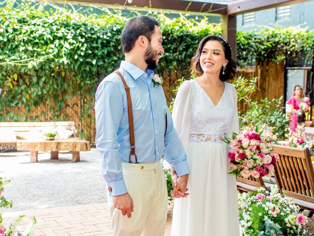
[[[299,214],[292,198],[283,197],[277,185],[268,192],[238,194],[241,236],[309,236],[308,219]]]

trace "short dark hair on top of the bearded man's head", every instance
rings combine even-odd
[[[134,47],[136,39],[142,35],[151,42],[151,36],[154,33],[155,26],[159,23],[150,16],[136,16],[131,18],[122,29],[121,43],[123,53],[128,53]]]

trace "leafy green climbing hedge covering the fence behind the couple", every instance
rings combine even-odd
[[[50,3],[2,3],[0,121],[38,120],[3,108],[24,105],[30,111],[42,103],[56,105],[51,106],[49,118],[58,120],[67,106],[65,100],[78,93],[82,118],[92,118],[92,101],[84,98],[93,96],[100,80],[123,59],[120,34],[127,21],[120,11],[103,11],[103,15],[84,15]],[[200,39],[221,33],[220,25],[207,19],[195,22],[184,16],[170,20],[163,13],[153,15],[161,23],[166,52],[159,73],[179,70],[187,76]],[[313,41],[313,32],[303,29],[238,32],[238,61],[245,65],[255,59],[280,60],[303,51],[311,58]]]

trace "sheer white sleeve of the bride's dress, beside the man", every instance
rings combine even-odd
[[[186,151],[190,130],[192,103],[192,81],[184,81],[180,86],[172,110],[175,129]]]

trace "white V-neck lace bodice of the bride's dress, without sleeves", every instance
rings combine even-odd
[[[190,141],[197,138],[200,139],[197,142],[204,142],[201,139],[219,141],[227,133],[234,116],[232,85],[225,83],[225,90],[216,106],[196,80],[192,81],[192,94]],[[204,136],[193,138],[195,134]]]

